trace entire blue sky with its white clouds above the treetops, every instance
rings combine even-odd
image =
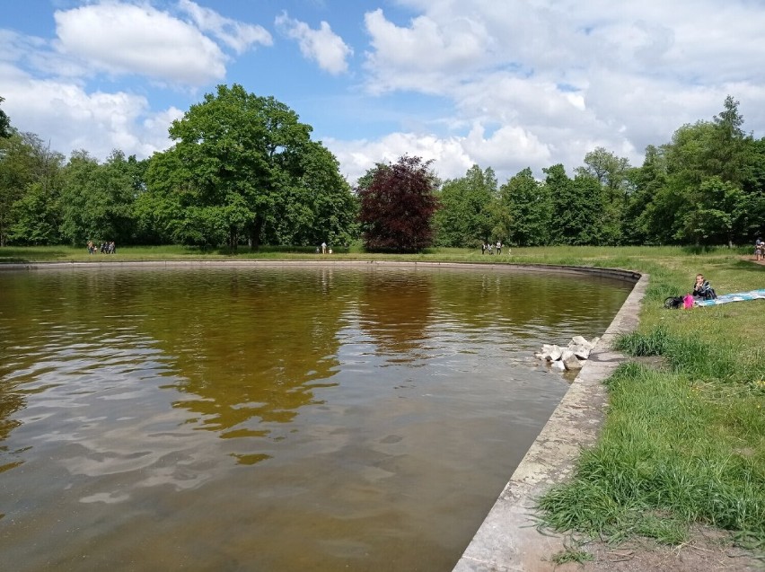
[[[0,15],[0,96],[52,149],[138,158],[217,84],[273,95],[354,182],[402,154],[442,178],[569,172],[712,119],[765,135],[751,0],[25,0]]]

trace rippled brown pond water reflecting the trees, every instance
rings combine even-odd
[[[0,272],[0,568],[451,570],[631,285]]]

